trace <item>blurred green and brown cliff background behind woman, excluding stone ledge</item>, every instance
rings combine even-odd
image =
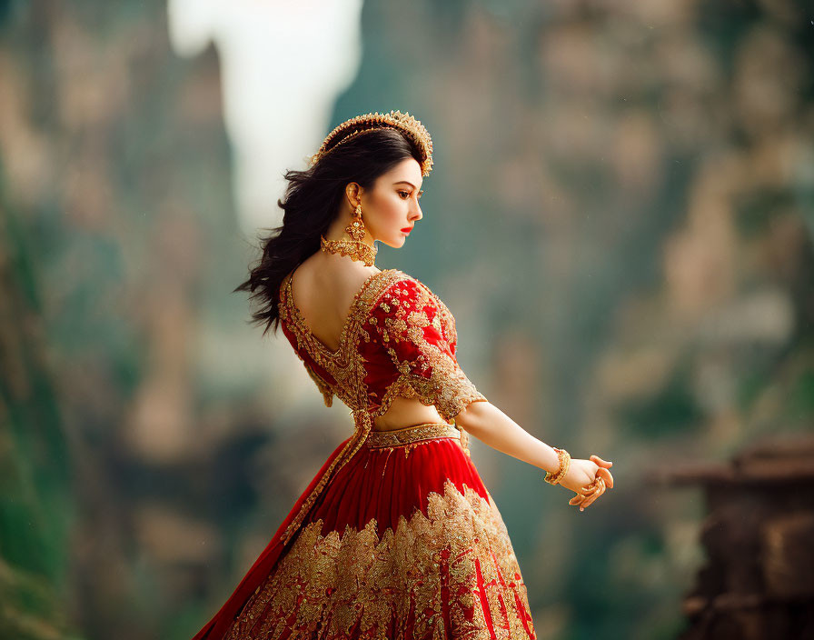
[[[814,420],[814,13],[793,0],[0,0],[0,637],[188,638],[347,435],[232,289],[342,120],[428,127],[431,286],[580,513],[472,439],[541,639],[674,638],[703,500]]]

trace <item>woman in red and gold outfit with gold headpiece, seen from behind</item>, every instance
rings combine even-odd
[[[580,510],[612,487],[610,462],[571,459],[526,433],[459,367],[455,320],[419,280],[374,266],[422,219],[432,140],[409,114],[337,126],[289,171],[283,226],[235,291],[280,326],[325,405],[353,435],[297,500],[194,640],[534,638],[526,587],[467,435],[546,471]]]

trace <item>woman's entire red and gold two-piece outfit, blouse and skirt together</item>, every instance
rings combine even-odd
[[[397,269],[354,297],[329,349],[280,290],[284,335],[355,429],[325,461],[233,595],[193,640],[536,638],[501,514],[454,422],[372,431],[396,395],[452,421],[486,400],[459,367],[455,320]]]

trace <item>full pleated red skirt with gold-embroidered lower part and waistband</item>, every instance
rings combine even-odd
[[[506,526],[458,434],[372,432],[283,545],[342,442],[194,640],[536,638]]]

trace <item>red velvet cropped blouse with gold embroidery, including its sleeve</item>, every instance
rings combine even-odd
[[[280,288],[280,326],[331,406],[333,395],[354,413],[382,415],[396,395],[435,405],[450,422],[486,400],[455,356],[455,318],[429,287],[398,269],[370,275],[354,295],[333,351],[314,336],[293,304],[292,275]]]

